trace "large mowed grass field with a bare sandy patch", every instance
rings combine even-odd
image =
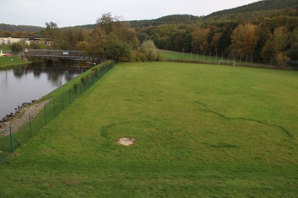
[[[146,62],[106,75],[0,164],[0,197],[297,197],[298,72]]]

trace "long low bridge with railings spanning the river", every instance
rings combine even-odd
[[[24,53],[26,57],[98,59],[98,57],[93,58],[93,57],[87,56],[85,51],[26,49],[24,50]]]

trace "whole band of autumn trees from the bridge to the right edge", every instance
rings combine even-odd
[[[285,0],[281,5],[279,0],[264,0],[206,17],[170,15],[159,18],[155,25],[154,21],[147,23],[147,20],[140,23],[124,21],[110,12],[99,17],[95,25],[84,27],[58,28],[56,23],[50,22],[40,34],[50,38],[52,45],[44,46],[41,42],[29,48],[84,50],[90,56],[106,53],[121,61],[158,60],[158,53],[148,55],[150,50],[142,48],[146,41],[151,41],[147,47],[153,51],[158,48],[200,54],[223,53],[231,58],[249,54],[264,63],[286,65],[290,59],[298,60],[296,1]],[[260,10],[258,7],[270,3],[274,9]],[[285,8],[277,9],[276,6]]]

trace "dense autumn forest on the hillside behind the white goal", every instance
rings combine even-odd
[[[249,17],[248,13],[237,13],[238,17],[232,20],[230,15],[222,15],[217,20],[208,18],[192,24],[163,24],[136,30],[141,42],[151,39],[158,49],[220,52],[233,58],[254,54],[265,63],[272,59],[286,62],[298,60],[297,8],[267,11],[266,16],[260,13],[262,17],[254,11]]]

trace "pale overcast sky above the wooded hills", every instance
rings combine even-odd
[[[96,23],[103,13],[124,20],[156,19],[172,14],[208,15],[258,0],[0,0],[0,23],[58,27]]]

